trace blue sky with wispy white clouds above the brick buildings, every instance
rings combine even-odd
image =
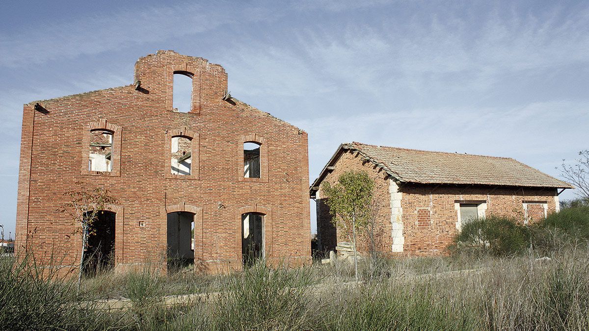
[[[2,1],[6,234],[22,104],[131,84],[157,49],[223,65],[231,95],[306,130],[312,180],[344,141],[513,157],[552,176],[589,148],[589,2]]]

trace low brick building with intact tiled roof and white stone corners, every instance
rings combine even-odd
[[[512,158],[342,144],[310,188],[323,251],[348,239],[333,226],[320,184],[348,170],[364,170],[375,181],[378,250],[389,256],[443,254],[476,217],[538,221],[558,211],[558,194],[572,187]]]

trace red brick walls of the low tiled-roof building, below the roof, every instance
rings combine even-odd
[[[460,227],[459,204],[478,203],[480,213],[516,217],[522,221],[539,221],[558,210],[558,197],[555,188],[528,188],[502,186],[466,186],[392,183],[392,179],[375,164],[362,160],[361,155],[344,151],[333,170],[323,181],[335,183],[337,178],[348,170],[363,170],[375,180],[375,197],[379,201],[378,223],[383,229],[379,237],[382,253],[389,256],[432,256],[448,253],[447,248]],[[392,192],[389,188],[397,188]],[[393,194],[400,193],[398,208]],[[329,208],[323,201],[322,190],[316,193],[317,237],[323,251],[335,249],[337,241],[348,241],[342,231],[336,231],[331,224]],[[401,211],[401,212],[399,212]],[[393,216],[392,216],[393,214]],[[400,215],[400,222],[396,216]],[[395,250],[393,237],[395,221],[402,226],[401,250]],[[365,239],[363,239],[365,240]],[[360,243],[360,247],[365,243]]]

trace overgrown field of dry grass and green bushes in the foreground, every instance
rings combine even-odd
[[[507,223],[506,223],[507,222]],[[77,284],[46,280],[31,263],[0,262],[0,327],[12,330],[589,329],[589,210],[537,226],[489,218],[451,256],[269,269],[230,276],[156,269]],[[476,224],[476,223],[473,223]],[[490,224],[490,225],[489,225]],[[543,258],[547,257],[547,258]],[[541,259],[543,258],[543,259]],[[216,293],[166,307],[171,294]],[[128,309],[98,299],[128,298]]]

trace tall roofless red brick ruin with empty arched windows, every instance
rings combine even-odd
[[[191,79],[187,112],[173,108],[177,75]],[[134,78],[24,105],[17,251],[77,265],[77,226],[57,209],[82,181],[120,201],[89,241],[115,269],[166,255],[211,272],[309,261],[307,133],[231,98],[203,58],[158,51]]]

